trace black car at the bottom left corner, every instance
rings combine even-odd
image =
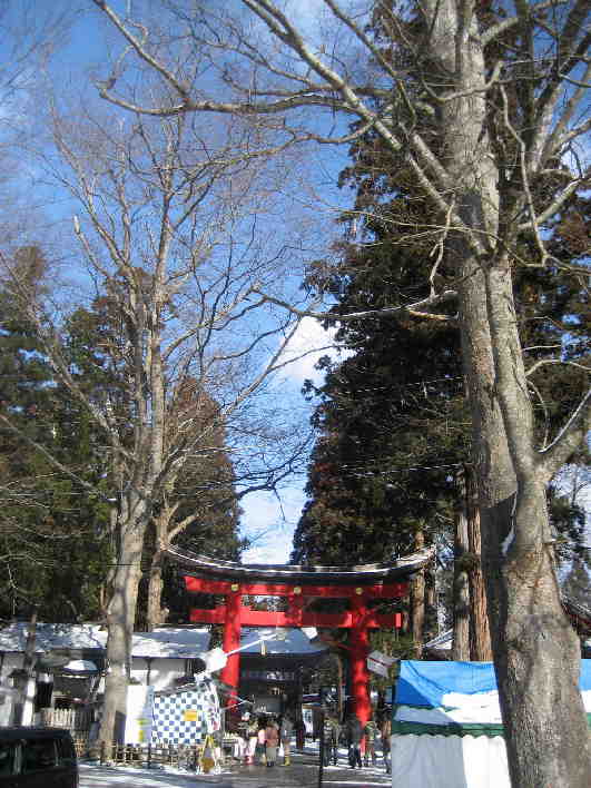
[[[1,788],[78,788],[72,737],[61,728],[0,728]]]

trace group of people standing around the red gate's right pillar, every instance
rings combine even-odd
[[[362,768],[377,764],[377,751],[382,749],[386,772],[391,772],[390,740],[392,736],[392,722],[390,717],[384,719],[378,727],[373,718],[370,718],[365,726],[359,719],[351,713],[341,726],[338,719],[327,715],[324,722],[324,765],[328,766],[331,760],[336,766],[338,761],[338,746],[345,745],[348,750],[348,764],[352,769]],[[363,750],[363,762],[362,762]]]

